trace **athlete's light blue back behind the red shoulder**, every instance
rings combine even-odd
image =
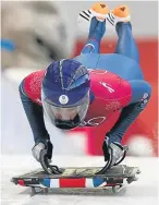
[[[123,80],[143,80],[142,69],[135,60],[119,53],[82,53],[74,58],[87,69],[106,70]]]

